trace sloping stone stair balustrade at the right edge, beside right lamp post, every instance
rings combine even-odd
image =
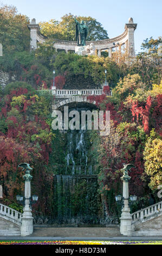
[[[132,224],[137,221],[144,221],[147,217],[151,217],[154,214],[162,214],[162,201],[153,205],[150,205],[144,209],[133,212],[132,216]]]

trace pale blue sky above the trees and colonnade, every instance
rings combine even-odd
[[[134,32],[135,53],[146,38],[162,36],[162,0],[0,0],[16,6],[18,13],[27,15],[36,23],[60,20],[65,14],[90,16],[102,24],[109,38],[122,34],[125,23],[133,17],[137,23]]]

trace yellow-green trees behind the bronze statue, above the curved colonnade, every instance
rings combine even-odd
[[[87,41],[93,40],[103,40],[108,39],[108,34],[105,29],[103,29],[100,22],[96,21],[92,17],[77,17],[78,21],[86,21],[89,33],[87,36]],[[61,17],[61,21],[50,20],[49,22],[40,23],[41,33],[46,36],[51,36],[54,39],[75,41],[75,22],[74,15],[66,14]]]

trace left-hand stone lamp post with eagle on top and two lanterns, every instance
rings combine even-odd
[[[25,193],[24,197],[17,195],[16,199],[24,204],[23,216],[22,216],[22,225],[21,225],[21,236],[31,235],[33,233],[33,215],[31,213],[31,188],[30,181],[33,176],[30,175],[30,170],[33,170],[29,166],[29,163],[21,163],[18,167],[22,167],[25,170],[25,175],[23,178],[25,180]],[[33,196],[33,199],[37,197]]]

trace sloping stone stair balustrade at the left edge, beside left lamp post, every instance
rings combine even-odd
[[[0,204],[0,217],[4,220],[11,221],[17,225],[21,225],[22,214],[19,211],[16,211],[9,206]]]

